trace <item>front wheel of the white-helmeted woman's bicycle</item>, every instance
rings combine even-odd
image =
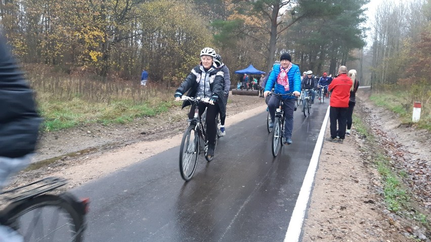
[[[193,134],[192,134],[193,131]],[[193,136],[193,140],[191,137]],[[190,146],[192,145],[192,146]],[[194,146],[194,147],[193,147]],[[189,154],[189,155],[185,155]],[[185,181],[189,181],[196,171],[199,158],[199,135],[195,127],[190,125],[183,134],[180,146],[180,173]],[[191,165],[191,167],[190,167]]]

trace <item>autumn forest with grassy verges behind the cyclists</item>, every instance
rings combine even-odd
[[[371,99],[431,128],[431,4],[367,0],[1,0],[0,19],[44,130],[129,122],[176,105],[173,88],[211,46],[230,68],[268,72],[284,52],[301,72],[358,71]],[[367,40],[368,39],[368,40]],[[150,86],[139,86],[143,69]]]

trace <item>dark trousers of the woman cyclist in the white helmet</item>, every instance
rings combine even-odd
[[[207,104],[199,103],[199,117],[205,112]],[[217,135],[217,123],[215,123],[215,116],[220,112],[219,105],[215,103],[214,105],[208,104],[208,109],[206,110],[206,133],[208,135],[208,141],[214,143],[215,135]],[[192,106],[189,112],[189,119],[192,119],[195,115],[195,105]]]

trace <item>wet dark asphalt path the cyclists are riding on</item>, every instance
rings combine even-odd
[[[328,102],[301,107],[277,158],[263,110],[228,127],[189,182],[175,147],[72,190],[91,199],[84,241],[283,241]]]

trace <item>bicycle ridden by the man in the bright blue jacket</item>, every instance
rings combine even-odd
[[[277,94],[277,93],[269,93],[268,95],[277,95],[277,96],[294,96],[292,93],[290,94]],[[281,146],[283,146],[283,136],[284,136],[284,100],[280,99],[280,104],[278,108],[275,110],[275,118],[274,118],[274,127],[272,133],[272,155],[276,157],[278,155],[278,151]]]

